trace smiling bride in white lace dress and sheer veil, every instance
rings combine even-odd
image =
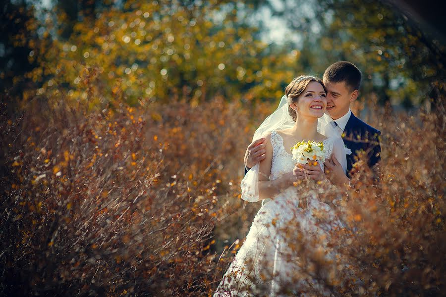
[[[315,277],[320,271],[304,250],[332,261],[336,252],[328,245],[330,231],[342,224],[333,204],[319,198],[320,185],[327,182],[324,164],[301,166],[290,151],[301,141],[323,142],[325,157],[335,156],[345,171],[342,139],[318,133],[318,119],[326,107],[322,81],[299,76],[285,88],[278,109],[256,130],[253,139],[266,139],[266,158],[245,175],[241,192],[247,201],[262,200],[262,207],[214,297],[331,295]]]

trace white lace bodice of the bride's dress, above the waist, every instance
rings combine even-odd
[[[328,159],[333,151],[333,137],[324,140],[324,148],[326,149],[325,157]],[[285,150],[283,146],[283,138],[277,131],[271,132],[271,145],[273,146],[273,160],[271,162],[270,180],[275,180],[287,172],[291,172],[296,165],[296,160],[292,159],[292,155]],[[320,163],[324,170],[324,163]]]

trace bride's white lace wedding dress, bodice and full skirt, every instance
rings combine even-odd
[[[271,144],[273,159],[270,180],[275,180],[291,172],[296,161],[285,151],[283,139],[276,131],[271,133]],[[326,139],[324,147],[327,158],[332,155],[334,147],[337,147],[336,151],[344,152],[343,142],[338,137]],[[324,169],[324,165],[321,166]],[[299,245],[309,238],[319,237],[322,238],[319,242],[325,256],[333,257],[325,239],[340,222],[331,207],[318,199],[315,191],[304,194],[297,193],[296,189],[291,186],[274,199],[263,201],[245,242],[224,274],[214,297],[305,296],[309,284],[313,292],[318,291],[319,296],[330,296],[330,292],[312,280],[311,276],[308,278],[308,274],[299,268],[306,262],[299,258],[301,255],[296,254],[296,250],[302,250]],[[307,201],[305,210],[299,207],[302,198]],[[323,222],[318,219],[321,213],[325,217]],[[284,290],[284,286],[288,286],[289,290]]]

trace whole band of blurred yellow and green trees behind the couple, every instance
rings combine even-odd
[[[31,11],[28,31],[8,31],[9,40],[21,41],[12,47],[26,45],[22,55],[38,67],[9,59],[17,71],[8,75],[25,100],[37,90],[46,98],[66,92],[73,101],[94,105],[106,103],[105,92],[131,104],[170,98],[197,104],[214,95],[277,100],[299,73],[322,75],[328,65],[346,59],[363,71],[361,93],[374,93],[383,104],[438,101],[445,92],[443,44],[391,4],[279,2],[54,0],[40,18],[44,24],[22,3]],[[285,20],[298,41],[263,42],[269,26],[265,9]],[[10,26],[13,19],[4,23]],[[97,83],[85,92],[88,75]],[[18,84],[23,80],[32,84],[23,88]]]

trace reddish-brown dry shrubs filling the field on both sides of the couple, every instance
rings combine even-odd
[[[239,199],[242,156],[274,106],[115,101],[85,113],[88,102],[37,97],[14,116],[3,101],[2,294],[215,290],[259,207]],[[445,289],[444,118],[369,114],[383,131],[381,187],[359,160],[343,202],[355,227],[337,238],[363,285],[336,292],[434,296]]]

